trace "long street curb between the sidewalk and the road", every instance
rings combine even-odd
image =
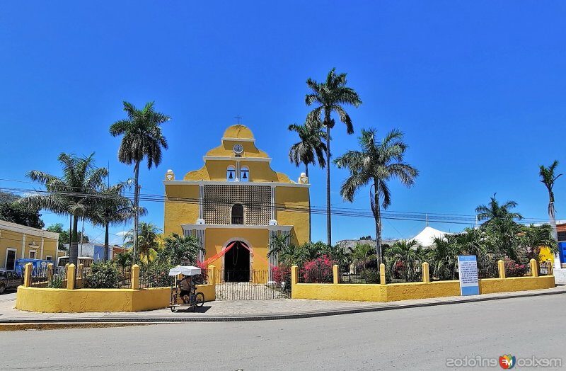
[[[117,324],[124,326],[147,324],[173,324],[180,322],[238,322],[238,321],[274,321],[280,319],[315,318],[322,316],[337,316],[342,314],[357,314],[368,312],[384,312],[395,309],[410,309],[419,307],[436,307],[439,305],[463,304],[470,302],[488,302],[501,299],[515,299],[520,297],[537,297],[566,294],[566,290],[554,292],[523,293],[495,297],[470,297],[451,301],[426,302],[415,304],[389,304],[379,307],[344,308],[318,312],[299,312],[291,314],[265,314],[250,316],[190,316],[190,317],[110,317],[110,318],[68,318],[68,319],[0,319],[0,331],[18,331],[19,329],[65,329],[83,327],[112,327]],[[53,325],[53,326],[50,326]],[[90,325],[90,326],[89,326]]]

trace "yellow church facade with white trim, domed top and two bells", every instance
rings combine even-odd
[[[199,260],[220,268],[223,280],[256,281],[258,271],[269,271],[270,279],[277,266],[276,257],[267,257],[272,236],[308,241],[308,179],[303,173],[291,181],[272,170],[244,125],[229,127],[203,159],[182,179],[167,171],[164,235],[197,236],[206,251]]]

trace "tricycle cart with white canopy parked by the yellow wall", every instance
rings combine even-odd
[[[192,312],[195,312],[197,307],[204,305],[204,294],[197,292],[194,281],[194,276],[200,275],[200,268],[193,266],[176,266],[169,270],[169,275],[173,276],[171,302],[169,303],[171,312],[177,312],[179,307],[191,308]],[[183,278],[177,280],[180,275],[183,275]]]

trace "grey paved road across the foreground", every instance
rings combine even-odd
[[[0,368],[443,370],[450,357],[566,358],[565,307],[566,295],[550,295],[313,319],[4,332]]]

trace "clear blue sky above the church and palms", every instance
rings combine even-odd
[[[204,6],[203,4],[207,4]],[[471,215],[492,193],[544,218],[538,166],[563,161],[566,134],[566,4],[562,1],[106,1],[6,2],[0,12],[0,178],[59,173],[60,152],[96,152],[111,181],[118,163],[109,125],[122,101],[156,101],[171,115],[170,149],[141,171],[143,192],[162,194],[167,169],[202,166],[236,114],[272,167],[296,178],[287,132],[302,122],[308,77],[336,67],[364,101],[349,110],[356,133],[333,130],[333,153],[357,147],[362,127],[405,132],[420,176],[391,183],[390,210]],[[368,208],[338,193],[333,205]],[[324,205],[324,172],[311,172],[312,204]],[[31,186],[0,181],[0,187]],[[566,178],[555,189],[566,219]],[[163,225],[163,205],[146,219]],[[46,213],[47,225],[66,219]],[[386,220],[384,236],[415,235],[424,222]],[[374,236],[372,219],[335,217],[333,239]],[[458,224],[432,224],[456,231]],[[117,233],[125,229],[112,229]],[[88,234],[102,239],[98,229]],[[316,216],[313,239],[325,239]]]

